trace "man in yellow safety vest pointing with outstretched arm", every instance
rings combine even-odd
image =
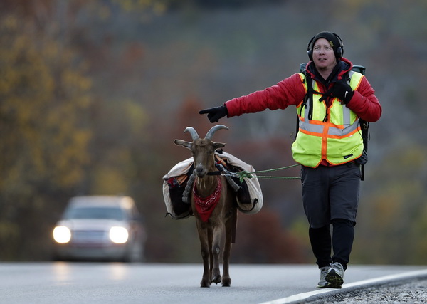
[[[353,64],[342,57],[337,34],[318,33],[307,53],[310,61],[303,73],[199,113],[218,122],[296,106],[299,127],[292,157],[301,164],[302,204],[320,268],[317,288],[341,288],[354,240],[360,166],[367,161],[359,120],[379,120],[381,105],[367,78],[352,72]]]

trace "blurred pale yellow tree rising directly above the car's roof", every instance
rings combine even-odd
[[[129,194],[139,183],[139,159],[147,154],[149,117],[141,105],[130,99],[94,103],[90,128],[94,136],[90,145],[93,156],[88,172],[89,194]]]

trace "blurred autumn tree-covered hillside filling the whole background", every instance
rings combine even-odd
[[[164,218],[162,174],[190,156],[172,140],[189,138],[189,125],[206,134],[201,108],[295,73],[325,28],[367,66],[384,107],[371,125],[353,261],[423,263],[427,2],[274,2],[1,0],[0,257],[46,258],[41,218],[53,222],[75,194],[122,192],[146,216],[148,261],[200,261],[194,221]],[[216,138],[256,169],[292,162],[294,110],[221,123],[231,130]],[[297,182],[260,182],[263,208],[280,214],[270,231],[307,240]]]

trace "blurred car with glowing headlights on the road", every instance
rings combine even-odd
[[[75,196],[53,229],[60,261],[144,260],[146,233],[129,196]]]

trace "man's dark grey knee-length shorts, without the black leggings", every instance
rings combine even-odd
[[[311,228],[332,219],[356,222],[359,204],[360,169],[349,162],[334,167],[301,167],[302,204]]]

